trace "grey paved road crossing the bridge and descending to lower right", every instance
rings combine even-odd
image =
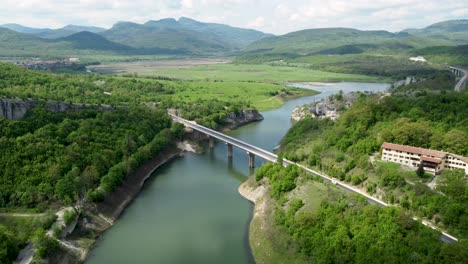
[[[467,75],[465,75],[466,77]],[[277,158],[278,156],[272,152],[269,152],[269,151],[266,151],[264,149],[261,149],[261,148],[258,148],[258,147],[255,147],[253,145],[250,145],[248,143],[245,143],[239,139],[236,139],[236,138],[233,138],[233,137],[230,137],[230,136],[227,136],[223,133],[220,133],[218,131],[215,131],[215,130],[212,130],[212,129],[209,129],[209,128],[206,128],[204,126],[201,126],[201,125],[197,125],[195,122],[192,122],[192,121],[188,121],[186,119],[183,119],[181,117],[178,117],[178,116],[175,116],[173,114],[169,114],[174,121],[176,122],[179,122],[179,123],[182,123],[184,124],[185,126],[187,127],[190,127],[192,129],[195,129],[195,130],[198,130],[200,132],[203,132],[213,138],[217,138],[221,141],[224,141],[224,142],[227,142],[229,144],[232,144],[233,146],[236,146],[238,148],[241,148],[249,153],[253,153],[259,157],[262,157],[264,158],[265,160],[268,160],[268,161],[271,161],[271,162],[277,162]],[[287,159],[283,159],[283,165],[284,166],[287,166],[287,165],[290,165],[290,164],[294,164],[294,165],[297,165],[298,167],[302,168],[303,170],[307,171],[308,173],[311,173],[313,175],[316,175],[316,176],[319,176],[321,177],[323,180],[325,181],[328,181],[328,182],[331,182],[333,184],[335,184],[336,186],[344,189],[345,191],[348,191],[348,192],[354,192],[354,193],[358,193],[360,195],[363,195],[364,197],[367,198],[367,200],[371,203],[375,203],[375,204],[379,204],[381,206],[393,206],[391,204],[387,204],[386,202],[382,201],[382,200],[379,200],[375,197],[372,197],[370,196],[369,194],[367,194],[366,192],[364,191],[361,191],[351,185],[348,185],[342,181],[339,181],[337,179],[333,179],[325,174],[322,174],[316,170],[312,170],[312,169],[309,169],[307,167],[305,167],[304,165],[301,165],[301,164],[298,164],[298,163],[295,163],[293,161],[290,161],[290,160],[287,160]],[[431,227],[432,229],[434,230],[439,230],[437,227],[433,226],[432,224],[430,224],[429,222],[426,222],[424,220],[421,220],[421,219],[418,219],[416,217],[413,217],[414,220],[416,221],[420,221],[423,225],[425,226],[428,226],[428,227]],[[444,241],[444,242],[456,242],[458,241],[457,238],[439,230],[442,235],[441,235],[441,240]]]

